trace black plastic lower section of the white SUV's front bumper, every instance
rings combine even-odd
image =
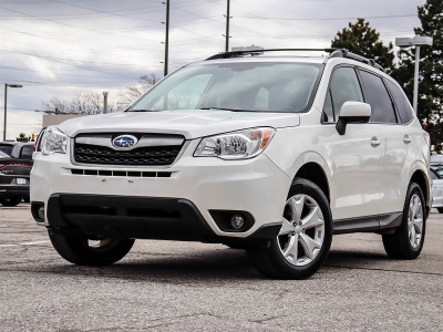
[[[87,238],[224,241],[186,199],[54,194],[48,219],[52,231]],[[248,239],[276,237],[280,228],[280,222],[264,225]]]

